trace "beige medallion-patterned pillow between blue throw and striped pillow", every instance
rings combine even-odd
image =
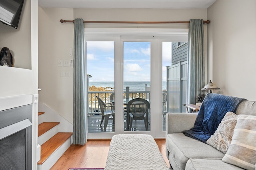
[[[236,120],[237,115],[231,111],[228,111],[220,122],[215,133],[206,141],[206,143],[215,149],[226,153],[232,140]]]

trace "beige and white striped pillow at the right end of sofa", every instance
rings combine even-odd
[[[223,162],[246,170],[254,170],[256,164],[256,116],[238,115],[230,147]]]

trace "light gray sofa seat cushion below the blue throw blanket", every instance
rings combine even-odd
[[[166,136],[166,148],[169,150],[173,162],[179,169],[184,170],[191,158],[222,159],[224,154],[212,146],[196,139],[185,136],[183,133],[171,133]],[[170,158],[169,158],[170,160]],[[170,160],[170,163],[173,163]]]

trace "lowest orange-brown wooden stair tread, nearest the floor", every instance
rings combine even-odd
[[[59,132],[41,145],[41,160],[37,164],[43,164],[72,134]]]

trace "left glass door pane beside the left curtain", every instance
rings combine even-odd
[[[87,132],[114,132],[114,41],[86,41],[88,114]],[[111,98],[110,98],[111,97]],[[101,104],[101,103],[104,104]],[[112,114],[105,121],[108,114]]]

